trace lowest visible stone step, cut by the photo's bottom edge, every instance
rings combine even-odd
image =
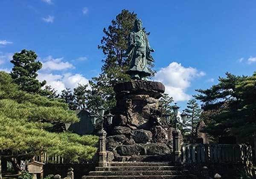
[[[186,175],[83,176],[82,179],[191,179]]]

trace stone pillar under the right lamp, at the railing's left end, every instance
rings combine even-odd
[[[174,156],[174,162],[181,162],[181,136],[180,136],[180,130],[173,130],[172,131],[172,137],[173,137],[173,156]]]

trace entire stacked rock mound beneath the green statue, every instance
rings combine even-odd
[[[114,87],[116,108],[106,139],[112,161],[170,161],[172,129],[160,122],[159,98],[165,87],[154,81],[129,81]]]

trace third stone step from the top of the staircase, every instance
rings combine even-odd
[[[93,171],[89,176],[154,176],[154,175],[184,175],[186,171],[178,170],[148,170],[148,171]]]

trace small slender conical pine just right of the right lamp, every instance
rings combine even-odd
[[[186,127],[191,128],[191,135],[195,136],[195,129],[200,121],[201,108],[198,106],[198,103],[195,99],[190,99],[187,103],[187,107],[185,109],[187,113],[187,121]]]

